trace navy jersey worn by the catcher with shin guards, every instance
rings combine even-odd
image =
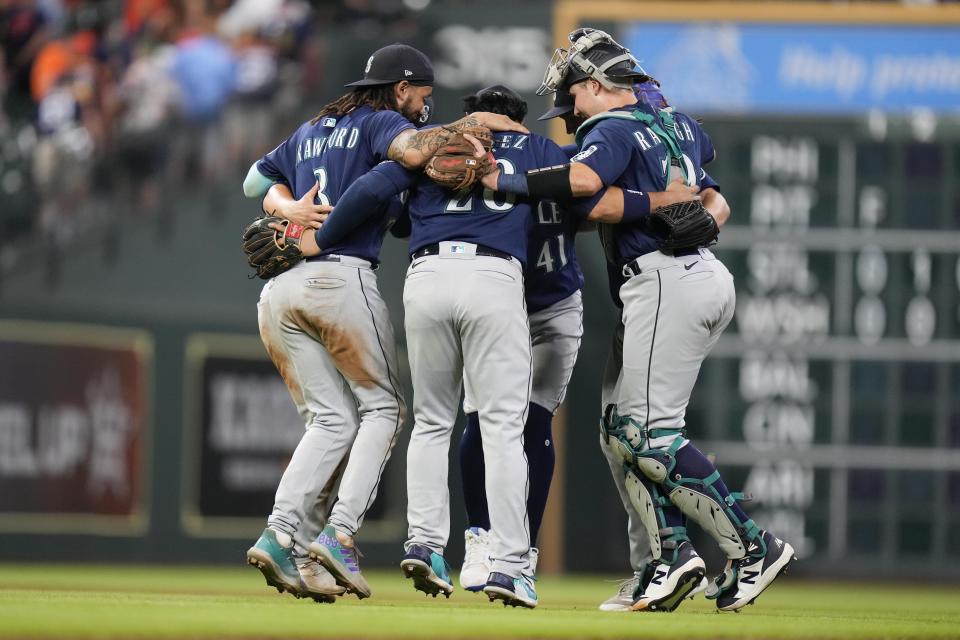
[[[640,110],[659,120],[657,111],[645,104],[629,105],[614,111]],[[713,142],[693,118],[674,113],[676,141],[683,154],[688,182],[702,189],[717,188],[703,165],[714,159]],[[580,145],[574,161],[593,169],[604,185],[636,191],[664,191],[670,154],[667,145],[651,127],[633,119],[605,118],[594,124]],[[657,250],[657,238],[644,221],[604,225],[607,257],[618,265]]]

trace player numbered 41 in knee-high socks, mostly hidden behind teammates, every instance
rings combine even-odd
[[[569,95],[566,93],[557,95]],[[464,100],[465,111],[503,113],[522,122],[527,104],[512,90],[493,86]],[[540,120],[573,111],[563,106],[547,112]],[[565,150],[566,151],[566,150]],[[533,351],[530,407],[523,431],[523,448],[529,467],[527,515],[530,521],[530,573],[536,572],[537,534],[547,506],[553,477],[555,453],[551,423],[566,395],[567,384],[583,335],[583,273],[577,262],[575,240],[582,219],[563,212],[556,203],[536,204],[533,225],[527,240],[524,270],[525,298]],[[467,525],[464,531],[464,560],[460,586],[468,591],[483,589],[490,573],[490,518],[484,475],[483,445],[479,414],[470,398],[464,401],[467,424],[460,441],[460,473]]]

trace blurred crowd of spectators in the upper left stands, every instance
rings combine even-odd
[[[230,184],[301,119],[311,31],[304,0],[0,0],[0,269],[25,229]]]

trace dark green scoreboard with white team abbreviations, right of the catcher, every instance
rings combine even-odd
[[[960,128],[709,118],[734,321],[687,422],[748,511],[851,572],[960,559]],[[951,568],[952,567],[952,568]]]

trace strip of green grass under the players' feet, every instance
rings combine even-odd
[[[0,565],[0,638],[958,638],[960,587],[781,578],[740,614],[702,596],[676,612],[603,613],[616,582],[540,580],[540,606],[413,591],[371,571],[373,597],[336,604],[268,589],[252,567]]]

